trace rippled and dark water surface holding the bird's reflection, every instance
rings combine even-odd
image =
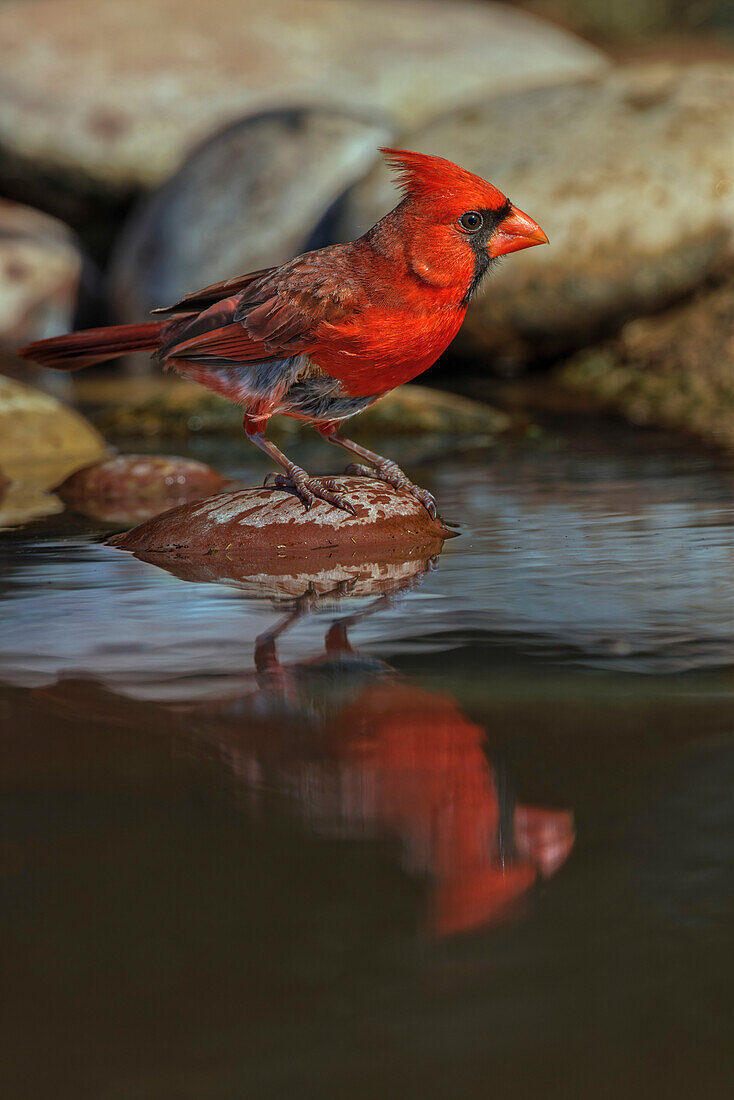
[[[732,1096],[734,471],[402,450],[357,592],[0,535],[3,1096]]]

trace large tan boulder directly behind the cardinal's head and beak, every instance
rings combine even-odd
[[[572,350],[698,286],[732,253],[734,69],[645,65],[525,91],[403,138],[510,195],[550,248],[508,256],[457,351],[523,363]],[[347,196],[339,233],[392,197],[383,166]]]

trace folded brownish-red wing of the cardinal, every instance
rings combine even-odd
[[[161,356],[237,363],[307,352],[322,324],[338,323],[359,311],[361,284],[347,248],[306,253],[282,267],[230,279],[230,287],[239,283],[239,293],[217,300],[197,317],[189,312],[188,318],[174,322]],[[210,293],[208,287],[184,302],[208,300]],[[183,309],[184,304],[179,305]]]

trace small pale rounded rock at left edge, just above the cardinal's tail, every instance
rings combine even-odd
[[[0,348],[67,332],[81,253],[72,232],[39,210],[0,199]]]

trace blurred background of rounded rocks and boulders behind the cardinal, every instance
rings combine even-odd
[[[0,65],[6,482],[58,398],[108,439],[234,430],[144,358],[66,378],[13,349],[359,235],[384,143],[485,175],[551,246],[421,380],[452,399],[406,387],[361,430],[598,410],[734,448],[731,0],[3,0]]]

